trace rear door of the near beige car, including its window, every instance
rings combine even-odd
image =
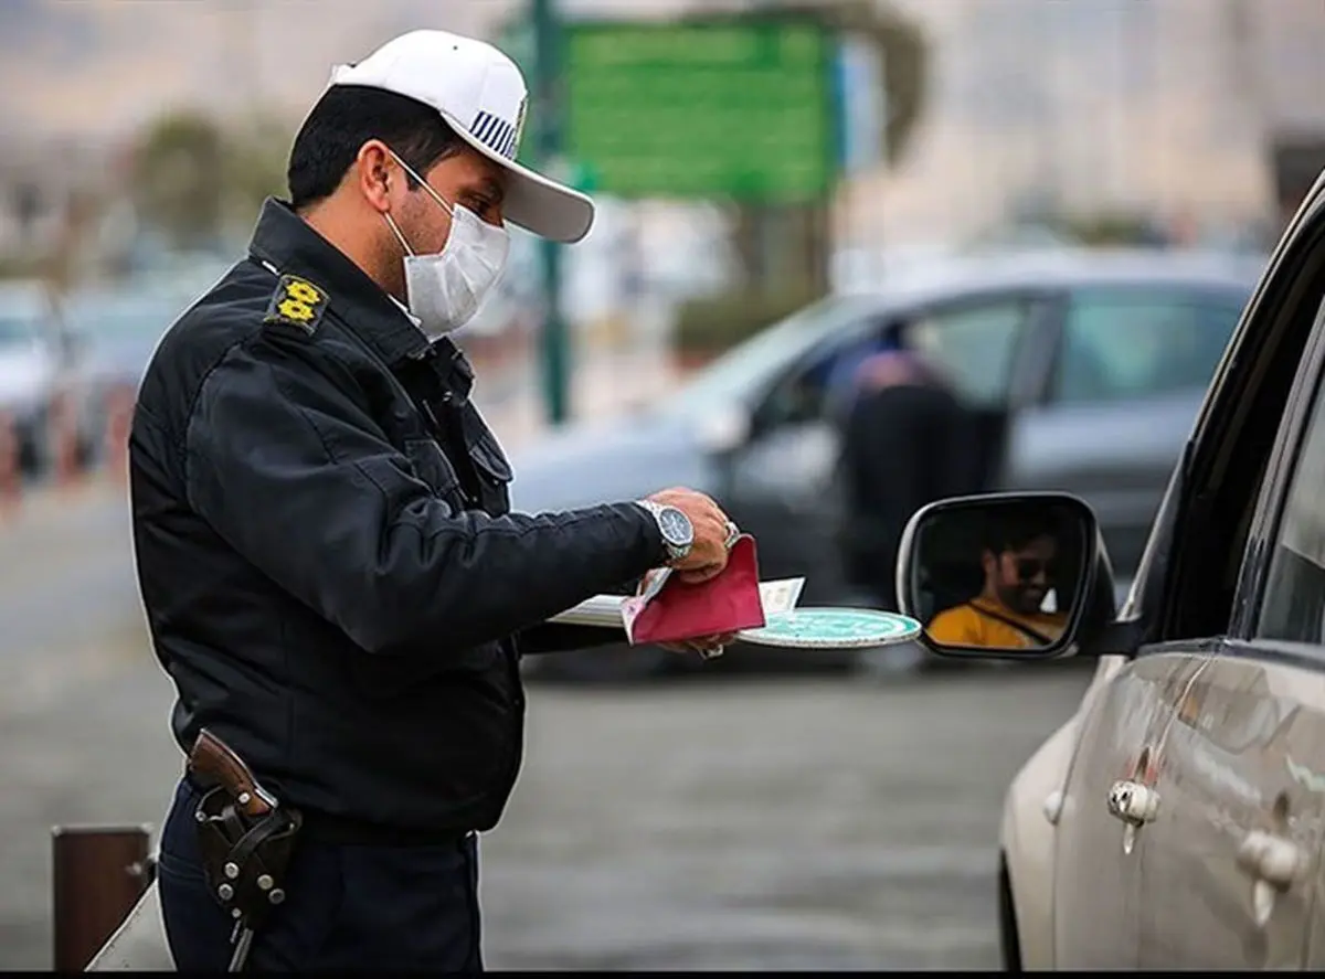
[[[1153,657],[1190,680],[1170,698],[1155,746],[1145,970],[1306,964],[1325,839],[1322,351],[1325,310],[1249,494],[1230,636]]]

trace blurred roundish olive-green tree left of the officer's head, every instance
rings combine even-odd
[[[132,152],[130,195],[144,225],[176,248],[204,248],[221,233],[225,138],[208,117],[162,117]]]

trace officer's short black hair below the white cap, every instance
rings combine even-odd
[[[290,205],[299,211],[330,197],[370,139],[395,150],[420,176],[464,147],[436,109],[366,85],[333,85],[303,121],[286,178]],[[409,187],[415,187],[415,180]]]

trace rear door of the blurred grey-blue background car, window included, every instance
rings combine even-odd
[[[1045,388],[1012,425],[1003,486],[1084,498],[1130,578],[1243,305],[1234,290],[1069,291]]]

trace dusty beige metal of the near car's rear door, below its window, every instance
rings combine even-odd
[[[1189,680],[1157,745],[1161,805],[1142,831],[1138,966],[1302,968],[1313,880],[1257,896],[1238,854],[1257,831],[1305,858],[1321,847],[1325,676],[1244,656],[1166,658],[1171,676]]]

